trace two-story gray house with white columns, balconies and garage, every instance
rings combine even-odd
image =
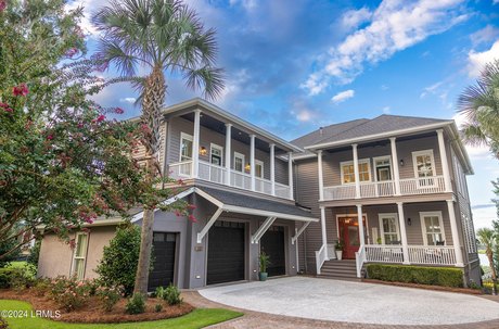
[[[159,161],[182,180],[165,202],[188,200],[197,222],[155,213],[150,289],[256,280],[260,251],[271,257],[270,276],[355,278],[376,262],[456,266],[465,282],[479,281],[472,168],[452,121],[383,115],[287,142],[201,99],[163,114]],[[140,210],[132,215],[140,225]],[[75,232],[75,250],[47,233],[39,275],[95,277],[120,222]]]

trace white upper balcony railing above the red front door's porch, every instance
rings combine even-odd
[[[372,181],[360,184],[360,198],[379,198],[396,195],[396,186],[393,180]],[[430,193],[442,193],[445,191],[443,176],[424,178],[400,179],[401,195],[418,195]],[[347,200],[356,199],[355,185],[342,185],[324,187],[324,200]]]

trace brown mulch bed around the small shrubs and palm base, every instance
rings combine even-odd
[[[90,298],[87,306],[81,309],[65,312],[55,304],[54,301],[47,296],[36,296],[31,291],[25,290],[16,292],[13,290],[0,290],[0,299],[2,300],[20,300],[28,302],[36,311],[60,311],[61,317],[53,318],[53,320],[63,322],[79,322],[79,324],[116,324],[116,322],[135,322],[135,321],[149,321],[179,317],[185,315],[194,309],[188,303],[180,303],[179,305],[170,306],[161,299],[149,298],[145,305],[145,313],[142,314],[126,314],[125,305],[127,300],[120,300],[112,312],[105,312],[98,298]],[[163,309],[155,312],[156,304],[162,304]]]

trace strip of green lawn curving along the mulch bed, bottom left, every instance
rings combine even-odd
[[[127,324],[66,324],[47,318],[29,317],[31,306],[26,302],[0,300],[0,311],[28,311],[26,318],[5,318],[11,329],[195,329],[204,328],[242,316],[242,313],[223,308],[196,308],[172,319]]]

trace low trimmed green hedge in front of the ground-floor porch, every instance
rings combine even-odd
[[[459,268],[369,264],[367,271],[369,279],[382,281],[463,287],[463,273]]]

